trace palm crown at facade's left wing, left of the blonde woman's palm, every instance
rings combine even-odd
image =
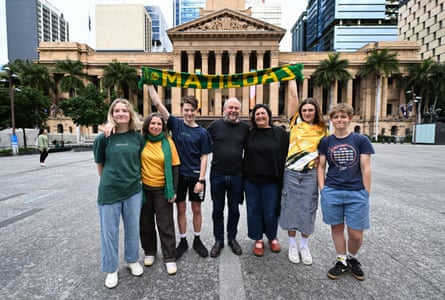
[[[54,73],[62,73],[63,77],[58,79],[58,85],[62,92],[68,92],[70,97],[75,97],[77,90],[83,88],[84,78],[88,78],[88,75],[83,72],[84,66],[82,62],[78,60],[66,59],[58,61],[56,63]],[[56,101],[58,102],[58,101]]]

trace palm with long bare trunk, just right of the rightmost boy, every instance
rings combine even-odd
[[[362,76],[373,76],[376,81],[376,96],[375,96],[375,140],[378,140],[379,131],[379,114],[381,101],[381,84],[383,76],[390,76],[392,73],[399,72],[399,61],[396,53],[390,53],[388,48],[372,49],[366,58],[366,63],[360,70]]]

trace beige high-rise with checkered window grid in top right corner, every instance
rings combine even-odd
[[[444,6],[443,0],[400,1],[399,39],[417,41],[422,60],[445,62]]]

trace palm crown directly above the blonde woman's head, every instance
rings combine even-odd
[[[138,74],[136,69],[129,64],[113,60],[104,68],[103,83],[106,88],[113,88],[118,97],[125,97],[126,90],[128,93],[137,92]]]

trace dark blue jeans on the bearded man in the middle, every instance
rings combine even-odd
[[[210,192],[213,200],[213,235],[215,240],[224,242],[224,206],[227,202],[229,218],[227,221],[227,238],[236,239],[240,217],[239,205],[243,200],[243,177],[213,174],[210,176]]]

